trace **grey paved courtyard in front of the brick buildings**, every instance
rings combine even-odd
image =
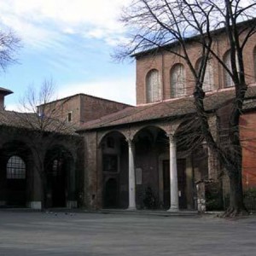
[[[255,255],[256,218],[0,211],[0,255]]]

